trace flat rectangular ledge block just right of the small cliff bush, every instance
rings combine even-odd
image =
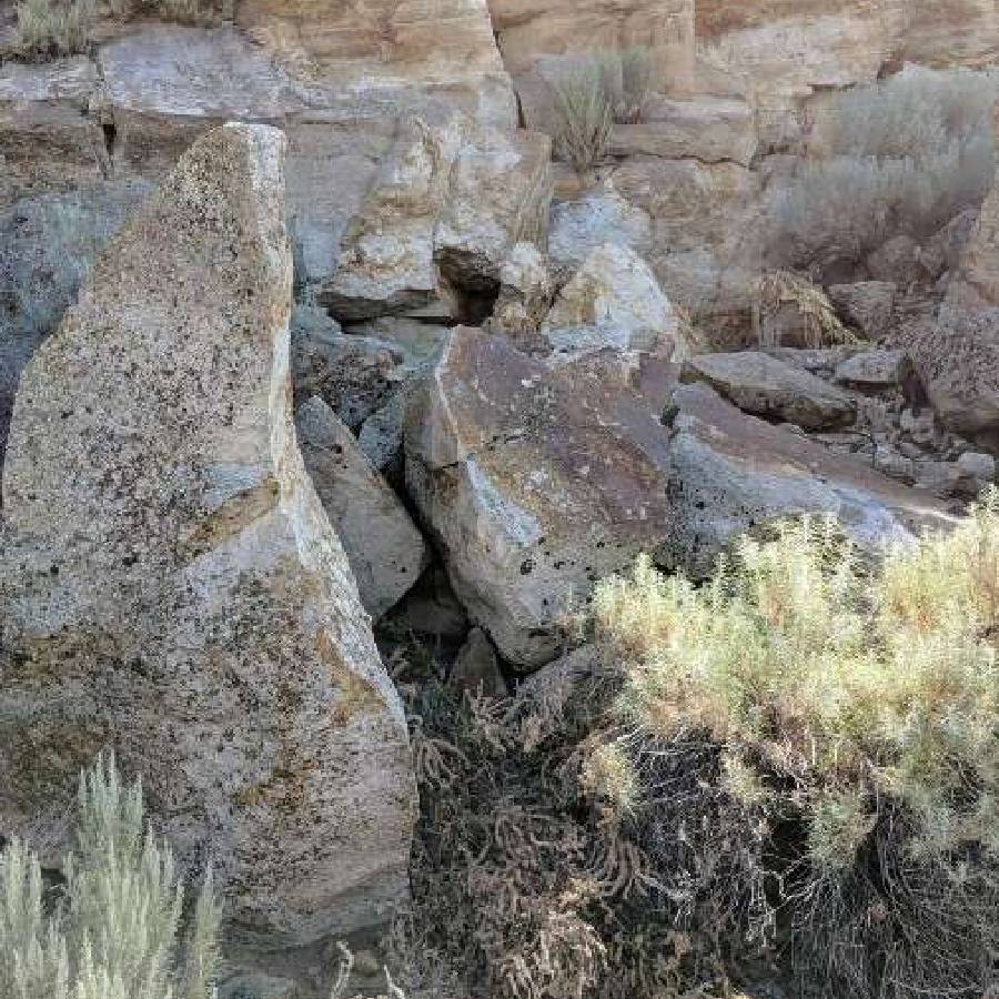
[[[716,97],[655,101],[644,120],[615,124],[615,157],[693,159],[748,167],[756,154],[756,117],[748,102]]]

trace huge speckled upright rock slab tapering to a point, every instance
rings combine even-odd
[[[0,831],[57,859],[113,746],[271,947],[406,892],[402,707],[295,443],[284,140],[200,140],[21,379],[0,537]]]

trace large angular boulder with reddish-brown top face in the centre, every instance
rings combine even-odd
[[[406,483],[504,658],[554,658],[558,618],[663,539],[667,451],[656,407],[601,365],[452,333],[408,414]]]

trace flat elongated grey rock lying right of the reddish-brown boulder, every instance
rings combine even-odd
[[[850,423],[848,395],[821,379],[758,351],[702,354],[684,362],[685,382],[706,382],[757,416],[786,420],[808,430]]]

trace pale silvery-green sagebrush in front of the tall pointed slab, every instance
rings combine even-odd
[[[208,999],[220,912],[209,871],[178,946],[183,888],[170,848],[143,829],[142,789],[112,756],[80,778],[65,884],[13,840],[0,857],[0,995],[6,999]]]

